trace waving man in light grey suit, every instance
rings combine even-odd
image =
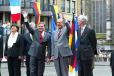
[[[58,28],[54,32],[54,46],[51,59],[54,60],[57,76],[68,76],[68,59],[72,51],[68,45],[68,32],[70,26],[63,23],[63,19],[57,20]]]

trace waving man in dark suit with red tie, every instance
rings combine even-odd
[[[33,30],[27,21],[27,13],[23,12],[24,21],[27,29],[32,34],[33,42],[28,54],[30,55],[30,76],[43,76],[45,68],[46,47],[50,54],[50,34],[45,32],[45,23],[40,22],[38,29]]]

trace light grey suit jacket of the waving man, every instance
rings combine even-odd
[[[70,26],[68,23],[65,24],[65,26],[61,29],[60,37],[58,38],[59,29],[57,29],[53,35],[54,35],[54,46],[52,47],[52,56],[54,56],[55,59],[58,58],[59,54],[62,57],[67,57],[72,55],[72,51],[69,48],[68,45],[68,32],[70,30]]]

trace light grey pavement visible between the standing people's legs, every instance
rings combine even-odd
[[[7,64],[2,63],[1,67],[2,76],[8,76]],[[25,67],[22,67],[21,73],[22,76],[26,76]],[[111,76],[109,62],[95,62],[93,74],[94,76]],[[46,64],[44,76],[57,76],[53,63]]]

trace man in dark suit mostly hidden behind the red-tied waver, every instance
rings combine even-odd
[[[30,23],[30,27],[35,30],[34,23]],[[33,41],[32,34],[29,32],[25,33],[23,35],[23,41],[24,41],[24,58],[26,59],[26,74],[27,76],[30,76],[30,55],[28,54],[28,51]]]

